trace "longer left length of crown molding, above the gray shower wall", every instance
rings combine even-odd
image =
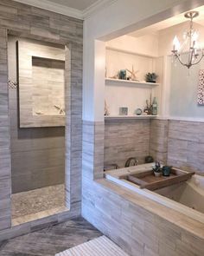
[[[83,19],[82,11],[67,7],[59,3],[53,3],[48,0],[14,0],[19,3],[29,4],[44,10],[50,10],[62,15],[71,16],[78,19]]]

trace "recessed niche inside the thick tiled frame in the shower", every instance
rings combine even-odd
[[[65,115],[65,62],[32,57],[33,115]]]

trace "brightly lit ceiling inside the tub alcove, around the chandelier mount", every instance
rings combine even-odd
[[[199,11],[199,16],[194,18],[194,23],[199,23],[202,26],[204,26],[204,5],[194,10]],[[156,34],[160,30],[164,30],[179,23],[184,23],[187,21],[188,20],[184,17],[184,13],[182,13],[180,15],[173,16],[167,20],[164,20],[163,22],[150,25],[149,27],[143,28],[142,30],[134,31],[131,34],[129,34],[129,36],[138,37],[147,34]]]

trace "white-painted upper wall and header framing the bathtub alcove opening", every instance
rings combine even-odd
[[[183,11],[201,6],[203,1],[190,0],[129,0],[124,4],[123,0],[112,1],[107,8],[100,10],[95,15],[86,18],[84,23],[84,95],[83,95],[83,119],[88,121],[104,120],[104,89],[101,74],[105,73],[105,66],[96,66],[98,57],[98,43],[95,39],[103,37],[103,40],[111,40],[117,36],[123,36],[133,30],[141,29],[152,23],[179,14]],[[105,43],[100,43],[99,49],[103,53]],[[100,54],[99,54],[100,56]]]

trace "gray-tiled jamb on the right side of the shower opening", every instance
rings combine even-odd
[[[66,47],[66,203],[67,207],[80,202],[82,154],[82,46],[73,43]],[[78,64],[77,64],[78,63]]]

